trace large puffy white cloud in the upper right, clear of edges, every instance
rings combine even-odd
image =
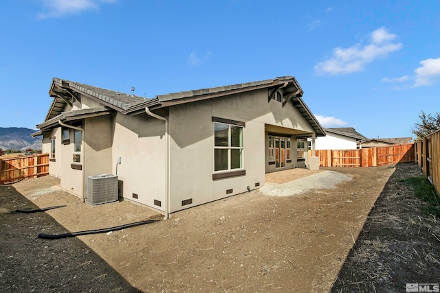
[[[396,37],[397,35],[380,27],[371,33],[371,40],[366,45],[358,43],[346,49],[333,49],[333,56],[315,65],[315,71],[333,75],[362,71],[368,63],[401,49],[401,43],[393,43]]]

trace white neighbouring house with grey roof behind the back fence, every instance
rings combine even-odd
[[[324,128],[325,137],[316,139],[316,150],[355,150],[359,141],[366,139],[355,128]]]

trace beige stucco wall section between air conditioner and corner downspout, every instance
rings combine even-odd
[[[118,157],[122,196],[164,211],[166,194],[166,135],[164,121],[146,114],[115,118],[112,170]],[[133,198],[137,194],[137,199]],[[162,202],[162,207],[154,204]]]

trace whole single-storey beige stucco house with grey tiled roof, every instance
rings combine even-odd
[[[115,174],[120,196],[167,216],[307,166],[298,139],[325,132],[302,95],[291,76],[151,99],[54,78],[33,135],[63,189],[85,199],[89,176]]]

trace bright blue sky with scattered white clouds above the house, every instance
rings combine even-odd
[[[324,127],[414,137],[440,112],[439,1],[4,1],[0,127],[35,129],[52,78],[154,97],[293,75]]]

